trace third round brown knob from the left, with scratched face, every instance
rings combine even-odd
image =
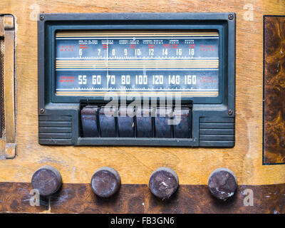
[[[161,199],[170,198],[178,186],[177,174],[168,167],[160,167],[150,175],[150,191]]]

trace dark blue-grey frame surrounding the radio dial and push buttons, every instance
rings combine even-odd
[[[232,18],[229,16],[233,16]],[[219,96],[217,98],[182,98],[192,103],[192,138],[80,138],[81,102],[102,102],[103,98],[63,97],[55,93],[56,31],[78,29],[215,29],[219,31]],[[71,116],[71,138],[41,138],[46,145],[163,145],[232,147],[234,140],[199,143],[200,118],[234,118],[235,103],[235,14],[165,13],[165,14],[41,14],[38,21],[38,115],[56,120]],[[232,112],[229,112],[232,110]],[[51,117],[50,119],[48,118]],[[40,122],[40,120],[39,120]],[[48,125],[47,123],[41,123]],[[41,131],[39,124],[39,132]],[[60,128],[60,127],[59,127]],[[52,130],[55,135],[56,129]]]

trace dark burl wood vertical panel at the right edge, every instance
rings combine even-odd
[[[285,162],[285,17],[264,17],[264,163]]]

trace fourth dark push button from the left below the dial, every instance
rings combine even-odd
[[[153,138],[154,130],[152,124],[152,108],[141,108],[137,110],[137,135],[138,138]]]

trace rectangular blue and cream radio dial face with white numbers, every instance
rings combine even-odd
[[[219,95],[218,31],[61,31],[56,95]]]

